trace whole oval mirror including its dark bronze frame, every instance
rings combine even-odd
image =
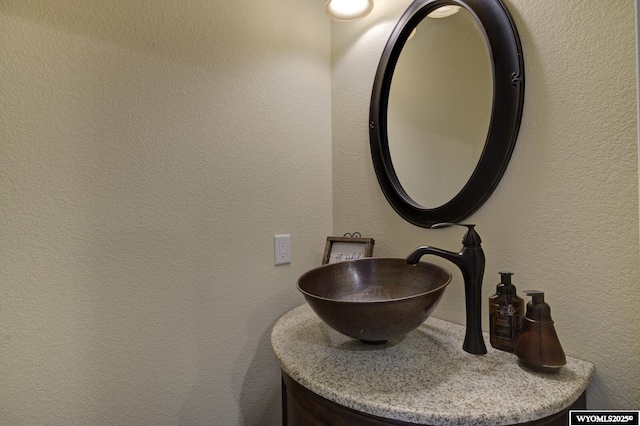
[[[423,227],[475,212],[511,158],[523,102],[520,40],[500,0],[415,0],[371,97],[373,164],[391,206]]]

